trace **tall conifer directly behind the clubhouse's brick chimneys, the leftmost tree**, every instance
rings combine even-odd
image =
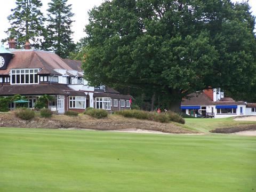
[[[12,14],[7,17],[11,23],[5,33],[9,38],[15,38],[18,41],[18,48],[23,48],[26,41],[36,49],[40,48],[40,41],[43,34],[43,22],[45,18],[40,11],[42,3],[40,0],[16,0],[17,7],[12,9]],[[8,39],[3,39],[5,42]]]

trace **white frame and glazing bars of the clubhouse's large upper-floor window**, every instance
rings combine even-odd
[[[23,72],[21,72],[23,71]],[[39,75],[37,73],[39,72],[38,68],[35,69],[11,69],[10,71],[10,81],[13,85],[28,85],[28,84],[39,84]],[[19,75],[19,82],[17,83],[17,75]],[[24,75],[24,83],[21,83],[21,75]],[[28,75],[28,82],[26,83],[26,75]],[[30,75],[33,75],[33,83],[30,83]],[[35,76],[37,75],[37,83],[35,83]],[[15,83],[12,82],[12,76],[15,76]]]

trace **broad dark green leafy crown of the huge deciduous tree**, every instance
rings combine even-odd
[[[255,79],[255,18],[246,2],[113,0],[89,16],[83,68],[91,85],[156,92],[177,109],[189,93],[245,92]]]

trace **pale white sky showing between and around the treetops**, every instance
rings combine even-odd
[[[41,0],[43,7],[41,11],[46,17],[47,4],[51,0]],[[72,4],[72,12],[75,13],[73,20],[72,30],[74,31],[73,39],[75,42],[79,41],[86,34],[83,32],[85,25],[88,21],[88,11],[94,6],[99,6],[104,0],[68,0],[68,4]],[[242,2],[243,0],[231,0],[232,2]],[[10,27],[7,16],[11,14],[11,9],[15,8],[15,0],[0,0],[1,11],[0,11],[0,39],[6,38],[7,35],[4,33],[7,28]],[[256,0],[249,0],[249,4],[252,7],[251,11],[253,15],[256,15]]]

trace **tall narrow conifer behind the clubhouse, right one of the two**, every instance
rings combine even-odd
[[[47,32],[45,33],[44,48],[49,51],[55,51],[61,58],[67,58],[69,52],[75,49],[75,44],[71,35],[71,24],[74,22],[71,18],[74,13],[71,12],[71,5],[67,5],[67,0],[52,0],[49,4],[47,14]]]

